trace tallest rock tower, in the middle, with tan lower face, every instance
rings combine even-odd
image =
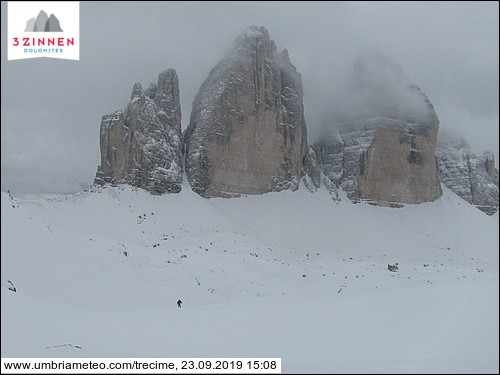
[[[204,197],[297,189],[307,151],[302,79],[263,27],[212,69],[185,132],[185,169]]]

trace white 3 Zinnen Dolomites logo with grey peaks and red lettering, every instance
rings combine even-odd
[[[8,60],[79,60],[79,35],[79,2],[8,3]]]

